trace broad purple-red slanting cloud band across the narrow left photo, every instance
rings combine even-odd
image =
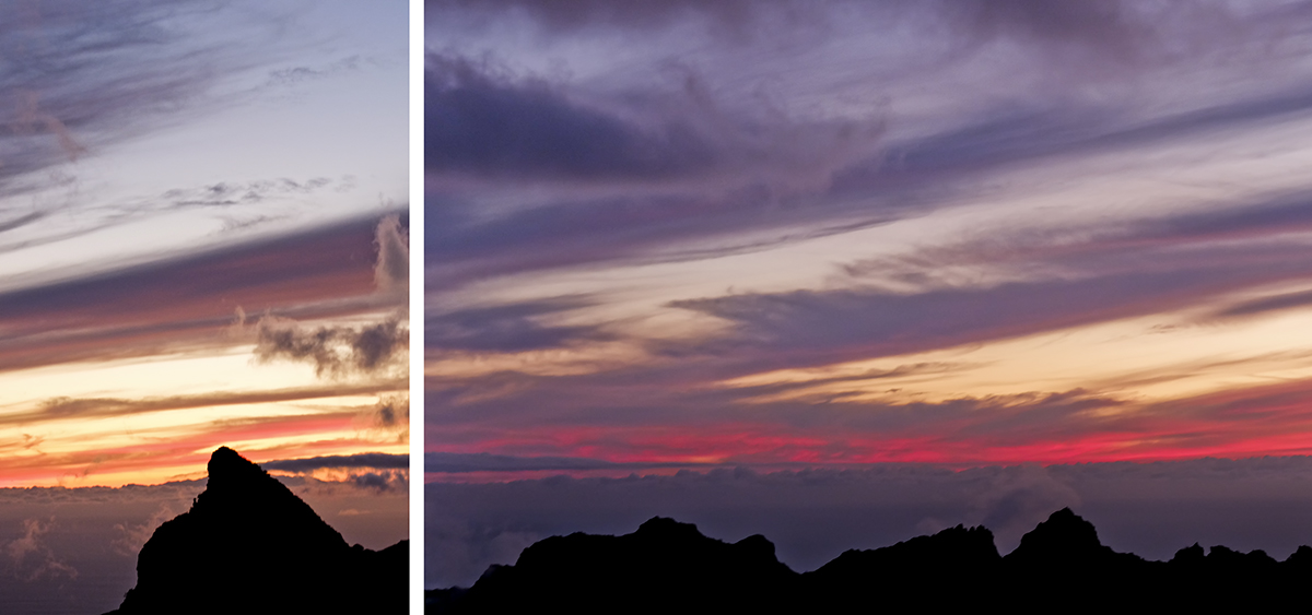
[[[110,346],[129,357],[227,345],[215,332],[239,306],[287,317],[390,307],[361,260],[377,226],[345,220],[0,291],[0,368],[96,359]]]

